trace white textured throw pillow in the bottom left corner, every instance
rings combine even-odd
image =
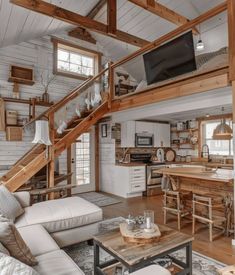
[[[32,267],[0,252],[0,273],[2,275],[39,275]]]

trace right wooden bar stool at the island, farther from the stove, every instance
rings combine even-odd
[[[214,238],[225,233],[226,227],[226,218],[222,216],[216,216],[213,214],[213,209],[220,209],[224,207],[222,203],[223,198],[214,196],[211,194],[205,195],[197,195],[193,194],[193,225],[192,225],[192,233],[195,234],[195,222],[196,220],[202,223],[209,224],[209,239],[210,242],[213,241]],[[216,235],[213,235],[213,228],[218,228],[221,230]]]

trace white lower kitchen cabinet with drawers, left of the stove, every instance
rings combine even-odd
[[[106,166],[106,171],[101,171],[105,174],[101,182],[102,191],[123,198],[142,196],[146,190],[145,166],[110,166]]]

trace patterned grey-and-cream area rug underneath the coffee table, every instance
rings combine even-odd
[[[99,231],[105,232],[119,226],[124,218],[118,217],[110,220],[105,220],[99,224]],[[64,249],[66,253],[75,261],[75,263],[84,271],[86,275],[93,274],[93,247],[87,245],[86,242],[72,245]],[[179,260],[185,260],[185,250],[180,250],[173,253],[174,257]],[[111,256],[101,250],[101,262],[111,259]],[[225,267],[225,264],[215,261],[209,257],[201,255],[193,251],[193,275],[218,275],[217,270]],[[113,275],[121,275],[121,270],[117,269]],[[128,274],[126,271],[124,274]]]

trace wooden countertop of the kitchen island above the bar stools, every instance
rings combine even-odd
[[[166,175],[196,178],[208,181],[233,182],[233,171],[228,169],[218,169],[216,172],[204,171],[204,167],[171,167],[162,168],[158,172]]]

